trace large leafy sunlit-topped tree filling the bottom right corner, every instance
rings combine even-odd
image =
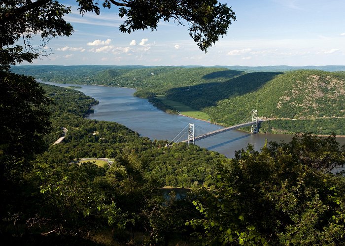
[[[344,244],[345,178],[328,167],[345,156],[334,143],[304,134],[237,152],[194,201],[204,217],[188,224],[204,228],[206,245]]]

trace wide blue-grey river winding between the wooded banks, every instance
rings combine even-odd
[[[223,128],[222,126],[210,124],[196,119],[165,113],[147,99],[133,96],[136,92],[131,88],[105,87],[94,85],[76,85],[76,84],[57,84],[44,82],[57,86],[80,86],[77,88],[80,92],[97,99],[100,103],[93,106],[94,113],[90,114],[88,119],[100,121],[117,122],[138,132],[140,136],[149,137],[151,140],[173,140],[173,138],[188,123],[194,123],[195,128],[203,128],[207,132]],[[260,114],[260,112],[259,112]],[[186,128],[188,130],[188,128]],[[184,140],[187,139],[185,135]],[[216,151],[232,158],[235,151],[246,148],[248,144],[255,146],[260,150],[267,141],[285,141],[289,142],[291,135],[283,134],[251,134],[240,130],[232,130],[221,133],[203,140],[195,142],[203,148]],[[345,144],[344,138],[338,138],[338,142]]]

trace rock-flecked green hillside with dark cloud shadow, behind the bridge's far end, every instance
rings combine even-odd
[[[317,70],[249,73],[207,88],[173,89],[167,96],[206,112],[213,122],[226,125],[236,124],[252,109],[258,109],[260,117],[274,121],[263,123],[264,131],[330,134],[337,130],[344,134],[340,130],[345,117],[342,75]],[[312,122],[315,119],[317,122]],[[336,122],[331,123],[330,119]],[[330,124],[332,127],[327,127]]]

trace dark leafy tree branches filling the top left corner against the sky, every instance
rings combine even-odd
[[[47,54],[44,46],[51,37],[67,35],[73,29],[63,17],[70,9],[52,0],[6,0],[0,6],[0,69],[23,61],[32,62],[39,55]],[[33,45],[39,34],[41,44]],[[23,45],[13,46],[20,38]],[[43,48],[43,50],[42,50]]]

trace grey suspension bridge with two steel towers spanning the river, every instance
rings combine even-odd
[[[258,111],[257,110],[252,110],[241,122],[237,123],[236,125],[232,125],[226,128],[222,128],[219,130],[207,132],[206,130],[203,129],[200,126],[197,126],[195,124],[189,123],[186,125],[177,135],[174,137],[174,139],[169,143],[173,143],[174,141],[176,143],[182,142],[182,143],[195,143],[195,141],[208,138],[226,131],[231,131],[237,128],[245,127],[245,126],[250,126],[251,125],[251,132],[252,133],[257,133],[259,128],[258,124],[263,122],[262,119],[258,118]],[[186,129],[188,127],[188,129]],[[183,140],[183,137],[185,138],[186,133],[187,134],[187,139]]]

